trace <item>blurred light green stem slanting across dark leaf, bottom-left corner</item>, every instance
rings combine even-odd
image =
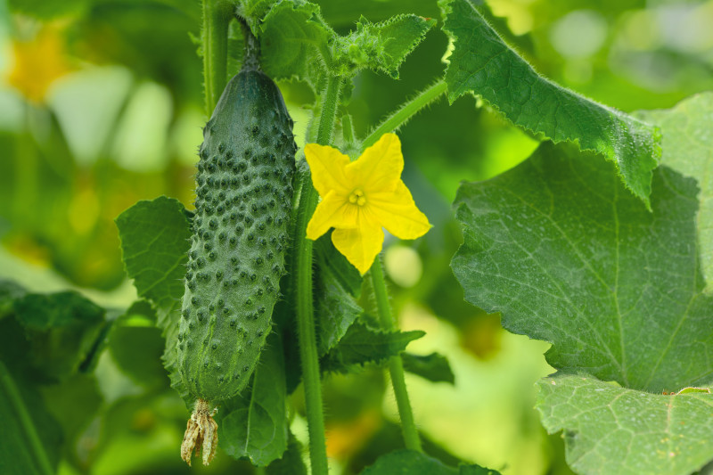
[[[20,390],[15,385],[15,381],[12,380],[12,375],[7,371],[7,368],[2,362],[0,362],[0,399],[7,400],[10,404],[12,414],[17,416],[20,427],[22,428],[22,433],[15,434],[14,436],[24,436],[24,438],[26,438],[25,442],[27,443],[29,452],[34,455],[32,458],[37,463],[37,473],[53,475],[52,464],[49,458],[47,458],[45,446],[42,445],[42,440],[39,438],[35,423],[32,422],[32,417],[29,415],[28,408],[23,402]],[[6,428],[4,427],[3,430],[6,430]]]

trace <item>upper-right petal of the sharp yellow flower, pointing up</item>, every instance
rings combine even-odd
[[[403,170],[404,156],[398,136],[384,134],[358,160],[349,163],[346,172],[348,183],[362,186],[368,194],[395,190]]]

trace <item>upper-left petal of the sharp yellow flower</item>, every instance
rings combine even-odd
[[[305,145],[305,159],[312,172],[312,183],[321,197],[330,190],[346,194],[351,191],[344,168],[350,163],[347,155],[337,149],[318,143]]]

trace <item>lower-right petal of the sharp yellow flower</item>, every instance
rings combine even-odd
[[[428,233],[428,217],[418,208],[406,184],[399,180],[394,192],[374,192],[367,196],[369,211],[389,233],[401,239],[416,239]]]

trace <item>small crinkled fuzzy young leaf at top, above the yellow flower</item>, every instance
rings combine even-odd
[[[356,22],[356,31],[336,39],[333,54],[344,63],[342,74],[368,68],[397,79],[398,67],[435,24],[436,20],[412,14],[396,15],[380,23],[361,17]]]

